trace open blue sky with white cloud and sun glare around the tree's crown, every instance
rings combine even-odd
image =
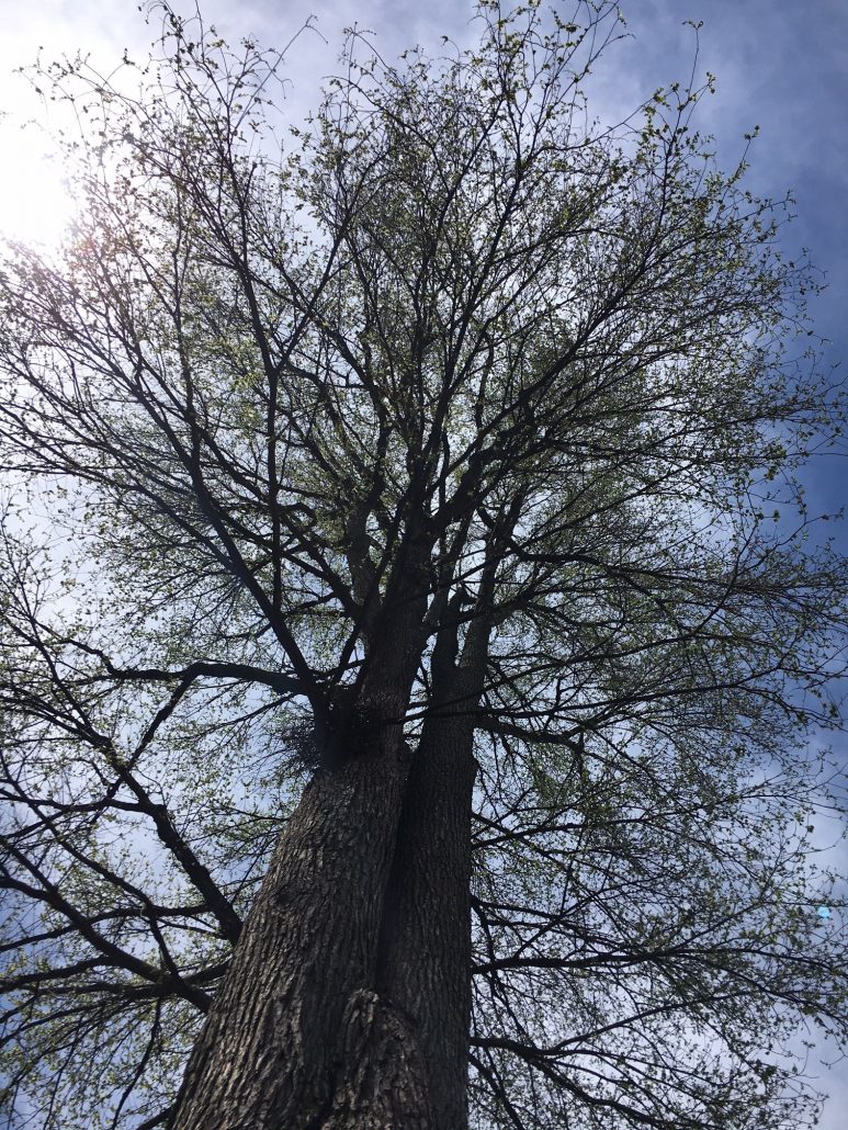
[[[193,0],[180,2],[189,14]],[[306,34],[289,52],[288,105],[298,118],[314,105],[323,76],[334,70],[344,27],[374,33],[386,56],[414,43],[438,49],[439,36],[458,42],[473,34],[469,0],[202,0],[207,23],[228,40],[253,35],[266,44],[287,42],[313,16],[319,34]],[[561,6],[564,16],[568,5]],[[785,250],[802,247],[823,272],[827,290],[811,305],[824,339],[824,366],[848,355],[848,3],[845,0],[622,0],[626,38],[614,44],[596,70],[592,112],[621,119],[658,86],[689,79],[698,33],[700,73],[717,77],[717,93],[699,115],[713,133],[719,164],[739,159],[743,134],[760,134],[751,153],[749,186],[775,198],[791,190],[797,219],[782,236]],[[69,214],[61,169],[42,158],[49,142],[37,129],[20,128],[37,112],[25,80],[14,69],[76,49],[110,69],[124,47],[144,53],[155,34],[137,0],[0,0],[0,229],[50,242]],[[322,38],[323,37],[323,38]],[[327,41],[327,42],[325,42]],[[848,449],[847,449],[848,450]],[[807,475],[811,512],[839,508],[848,496],[848,459],[822,457]],[[837,527],[848,551],[848,525]],[[811,1060],[811,1071],[816,1064]],[[827,1076],[831,1099],[821,1130],[843,1130],[848,1062]]]

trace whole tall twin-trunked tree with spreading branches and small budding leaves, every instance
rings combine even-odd
[[[8,1123],[803,1124],[842,409],[782,206],[709,86],[588,120],[606,5],[353,32],[282,149],[282,54],[162,10],[140,95],[50,71],[79,218],[0,268]]]

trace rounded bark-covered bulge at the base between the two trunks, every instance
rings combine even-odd
[[[433,1130],[424,1059],[409,1020],[370,989],[341,1017],[344,1059],[320,1130]]]

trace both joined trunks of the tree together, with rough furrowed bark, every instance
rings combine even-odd
[[[442,633],[434,713],[407,780],[399,719],[423,609],[400,610],[364,696],[386,724],[373,748],[360,742],[349,758],[343,748],[317,774],[280,836],[172,1130],[467,1125],[476,765],[466,712],[482,668],[466,655],[457,664],[456,634]]]

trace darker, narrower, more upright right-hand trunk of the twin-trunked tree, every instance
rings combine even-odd
[[[483,624],[475,628],[462,663],[449,635],[433,657],[433,714],[409,774],[378,974],[381,996],[417,1036],[435,1130],[468,1125],[473,712],[487,635]]]

